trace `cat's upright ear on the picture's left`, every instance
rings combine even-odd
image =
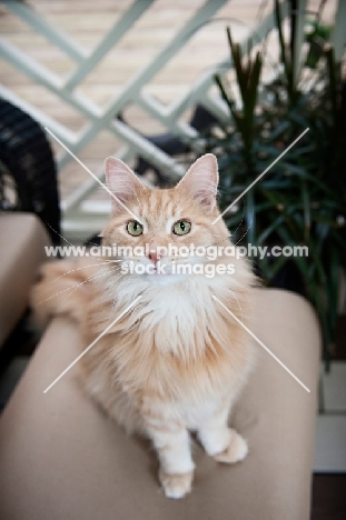
[[[136,197],[138,190],[142,188],[141,182],[134,171],[120,159],[108,157],[105,161],[107,188],[126,204]],[[121,204],[117,200],[112,201],[115,212],[121,211]]]

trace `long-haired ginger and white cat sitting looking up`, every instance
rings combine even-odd
[[[253,351],[247,332],[214,296],[246,322],[255,278],[243,258],[197,254],[198,247],[231,246],[224,221],[215,222],[215,156],[198,159],[171,189],[145,187],[115,158],[106,160],[106,177],[117,200],[102,244],[127,249],[111,258],[47,264],[32,302],[41,320],[57,313],[78,320],[87,347],[141,297],[81,358],[80,380],[127,431],[152,440],[165,493],[181,498],[191,489],[195,468],[190,432],[219,462],[247,454],[228,417]],[[195,253],[187,256],[192,244]],[[184,254],[162,253],[169,246],[185,246]],[[181,264],[199,268],[176,272]],[[206,276],[207,264],[215,276]],[[148,267],[150,273],[142,273]]]

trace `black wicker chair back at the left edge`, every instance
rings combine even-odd
[[[42,128],[0,99],[0,210],[29,211],[60,242],[60,207],[53,154]]]

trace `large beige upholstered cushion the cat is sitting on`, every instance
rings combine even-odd
[[[165,498],[146,441],[129,438],[85,397],[70,370],[73,324],[49,327],[0,420],[3,520],[307,520],[314,449],[319,331],[299,297],[258,290],[254,331],[312,390],[307,393],[258,346],[258,363],[234,413],[248,439],[233,467],[194,450],[191,494]]]

